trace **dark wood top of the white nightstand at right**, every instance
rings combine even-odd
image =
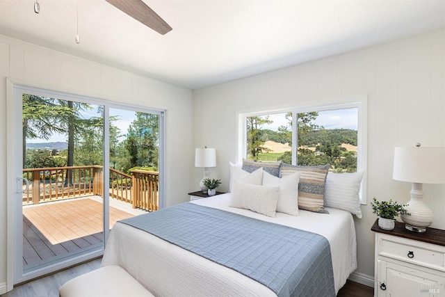
[[[445,246],[445,230],[428,227],[426,228],[425,233],[412,232],[405,228],[405,223],[399,222],[396,222],[396,227],[394,227],[394,230],[383,230],[378,227],[378,219],[375,220],[371,230],[374,232],[399,236],[407,239],[414,239],[416,241],[433,243],[437,244],[438,246]]]

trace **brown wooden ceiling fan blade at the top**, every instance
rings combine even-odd
[[[164,35],[172,31],[170,27],[157,13],[149,8],[142,0],[106,0],[133,19],[149,26],[154,31]]]

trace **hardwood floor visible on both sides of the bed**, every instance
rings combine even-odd
[[[0,297],[58,297],[58,288],[78,275],[99,268],[102,258],[14,287]],[[373,288],[348,280],[337,297],[372,297]]]

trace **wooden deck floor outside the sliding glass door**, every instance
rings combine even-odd
[[[131,209],[124,202],[110,200],[110,228],[117,220],[145,211]],[[102,200],[80,198],[24,207],[24,270],[54,262],[103,244]]]

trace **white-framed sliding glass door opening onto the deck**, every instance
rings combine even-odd
[[[161,111],[14,87],[14,283],[102,255],[114,223],[159,209]]]

